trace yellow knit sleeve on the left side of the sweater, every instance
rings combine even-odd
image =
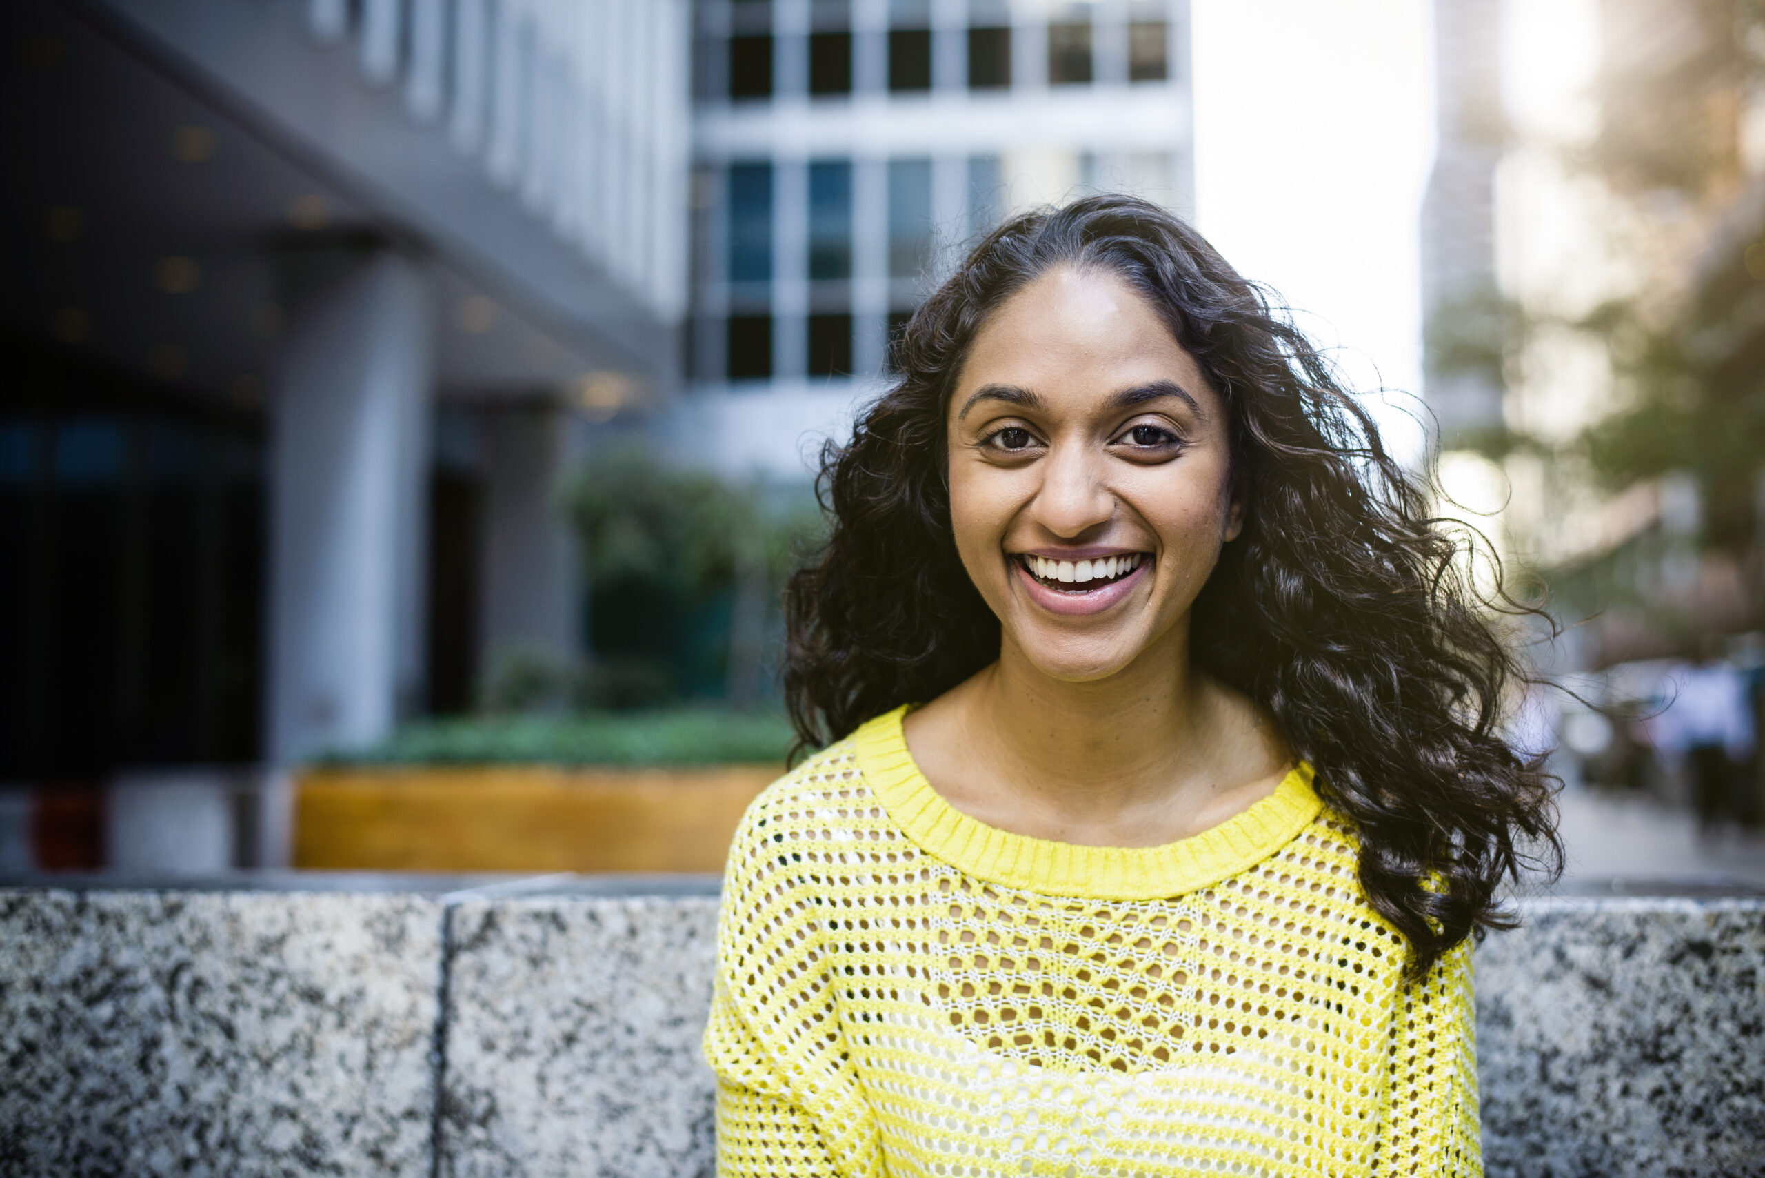
[[[824,905],[755,802],[729,854],[704,1056],[717,1072],[720,1178],[881,1176],[865,1100],[821,947]]]

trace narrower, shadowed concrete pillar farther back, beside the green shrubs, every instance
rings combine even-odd
[[[484,414],[480,674],[510,654],[567,667],[581,654],[575,538],[558,503],[570,418],[522,406]]]

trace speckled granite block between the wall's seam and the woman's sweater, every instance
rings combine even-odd
[[[450,910],[439,1174],[711,1174],[717,898],[697,891]]]

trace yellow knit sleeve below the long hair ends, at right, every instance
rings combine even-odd
[[[1470,940],[1396,998],[1373,1153],[1380,1178],[1481,1178]]]

